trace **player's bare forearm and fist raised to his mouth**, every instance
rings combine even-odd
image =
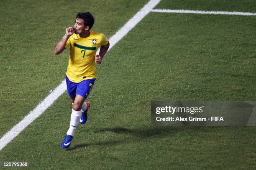
[[[74,33],[74,31],[75,31],[74,27],[69,27],[66,29],[66,34],[64,35],[64,37],[55,45],[54,54],[60,54],[65,50],[65,45],[67,43],[67,40]]]

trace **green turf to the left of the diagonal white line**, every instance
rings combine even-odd
[[[54,55],[54,46],[65,34],[65,28],[74,25],[78,11],[90,11],[96,21],[94,30],[110,37],[145,3],[146,0],[1,1],[0,136],[65,79],[69,52]]]

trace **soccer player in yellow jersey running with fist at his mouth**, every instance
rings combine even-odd
[[[91,13],[78,13],[74,27],[66,29],[66,34],[54,49],[54,54],[60,54],[67,47],[70,49],[66,82],[73,106],[69,130],[61,143],[61,148],[69,148],[79,120],[81,124],[87,120],[90,103],[84,101],[90,94],[96,79],[95,62],[101,64],[109,48],[107,37],[91,30],[93,24],[94,18]],[[98,47],[100,47],[100,54],[96,55]]]

